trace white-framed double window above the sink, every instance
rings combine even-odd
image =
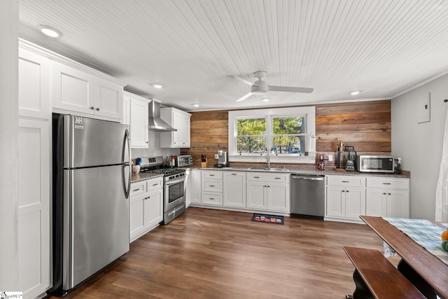
[[[229,160],[313,162],[316,138],[314,106],[229,111]],[[268,150],[269,149],[269,150]]]

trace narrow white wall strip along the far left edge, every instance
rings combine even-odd
[[[0,291],[19,291],[18,15],[18,1],[0,1]]]

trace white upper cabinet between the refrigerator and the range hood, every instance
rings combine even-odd
[[[123,92],[125,102],[129,102],[129,127],[132,148],[148,148],[148,103],[149,99]],[[125,116],[123,115],[123,118]]]

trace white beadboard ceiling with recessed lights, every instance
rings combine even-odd
[[[187,111],[390,99],[448,70],[445,0],[20,0],[19,10],[20,37]],[[235,102],[250,86],[227,75],[254,81],[258,70],[314,92]]]

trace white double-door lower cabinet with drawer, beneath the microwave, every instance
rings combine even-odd
[[[367,178],[366,214],[409,218],[409,179]]]

